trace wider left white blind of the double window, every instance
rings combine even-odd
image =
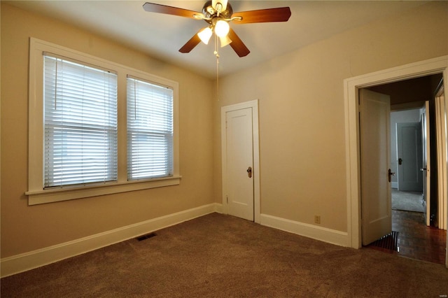
[[[44,186],[117,180],[117,76],[44,53]]]

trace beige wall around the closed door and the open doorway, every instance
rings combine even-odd
[[[428,3],[221,78],[216,152],[221,106],[259,100],[261,213],[311,225],[321,215],[321,227],[346,232],[343,80],[447,55],[447,16],[448,2]]]

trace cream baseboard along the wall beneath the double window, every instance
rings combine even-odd
[[[66,243],[60,243],[55,246],[41,248],[29,253],[5,257],[0,260],[0,276],[5,277],[18,274],[23,271],[28,271],[30,269],[51,264],[69,257],[87,253],[104,246],[110,246],[114,243],[132,239],[143,234],[148,234],[157,231],[158,229],[177,225],[181,222],[192,220],[193,218],[198,218],[202,215],[220,212],[221,210],[221,204],[214,203],[204,205]]]

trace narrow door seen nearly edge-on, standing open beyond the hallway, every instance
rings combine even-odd
[[[429,101],[421,113],[421,137],[423,143],[423,201],[426,202],[426,225],[430,225],[430,139],[429,139]]]

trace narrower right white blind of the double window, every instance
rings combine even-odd
[[[173,90],[127,78],[127,178],[173,176]]]

